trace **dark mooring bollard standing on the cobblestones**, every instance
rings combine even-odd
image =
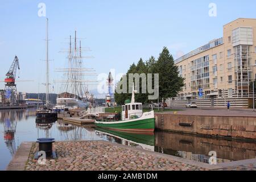
[[[39,143],[39,151],[46,152],[47,157],[53,156],[52,143],[55,142],[54,138],[38,138],[36,142]]]

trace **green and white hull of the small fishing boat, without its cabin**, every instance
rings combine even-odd
[[[155,118],[154,111],[143,113],[142,117],[125,121],[102,122],[96,121],[97,127],[111,130],[130,131],[130,132],[154,132]]]

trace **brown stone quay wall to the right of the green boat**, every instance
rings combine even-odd
[[[155,128],[163,131],[256,141],[256,117],[155,113]]]

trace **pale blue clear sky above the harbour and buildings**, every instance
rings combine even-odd
[[[46,5],[46,16],[39,16],[39,3]],[[216,16],[211,3],[216,5]],[[140,58],[158,57],[167,47],[176,58],[222,37],[224,24],[237,18],[256,18],[256,1],[128,1],[128,0],[0,0],[0,80],[10,68],[15,55],[20,71],[16,80],[18,92],[42,93],[46,75],[46,18],[49,19],[49,59],[52,93],[60,93],[57,68],[67,67],[69,35],[82,38],[82,46],[92,51],[84,56],[84,67],[94,68],[99,75],[115,70],[126,73]],[[214,9],[215,10],[215,9]],[[4,89],[4,82],[0,82]],[[98,98],[96,86],[89,89]]]

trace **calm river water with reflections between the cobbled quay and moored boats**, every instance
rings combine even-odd
[[[256,143],[166,132],[127,134],[62,121],[36,121],[35,109],[0,110],[0,135],[0,170],[5,170],[20,143],[35,142],[44,137],[56,141],[108,140],[203,163],[208,163],[210,151],[216,151],[218,163],[256,158]]]

